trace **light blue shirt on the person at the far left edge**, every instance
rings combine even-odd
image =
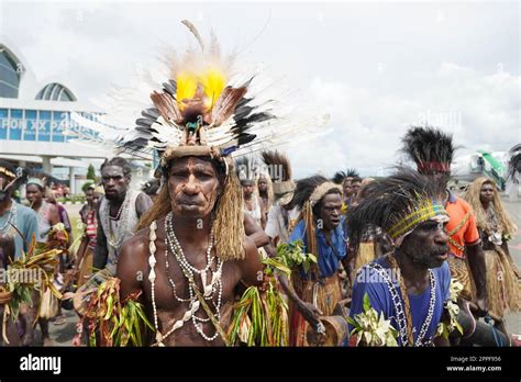
[[[16,228],[25,237],[25,241],[22,239],[20,234],[11,227],[11,225],[8,225],[2,231],[2,233],[9,233],[14,236],[14,257],[18,259],[22,255],[22,250],[27,252],[33,234],[36,236],[36,239],[38,238],[38,220],[36,217],[36,213],[32,209],[19,204],[15,201],[13,201],[11,209],[14,204],[16,205]],[[0,215],[0,226],[3,226],[8,217],[9,211],[5,211],[2,215]]]

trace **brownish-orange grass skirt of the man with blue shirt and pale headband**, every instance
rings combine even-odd
[[[320,281],[306,281],[300,274],[293,273],[293,288],[303,302],[315,303],[315,306],[324,316],[333,313],[336,304],[342,300],[340,282],[337,274],[333,274]],[[313,301],[315,300],[315,301]],[[297,311],[293,304],[289,306],[289,345],[290,346],[309,346],[306,339],[308,322]]]

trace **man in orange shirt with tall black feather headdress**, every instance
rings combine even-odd
[[[402,142],[402,150],[417,164],[418,171],[437,179],[446,188],[455,149],[452,136],[429,126],[411,127]],[[444,206],[451,218],[445,228],[451,248],[448,265],[452,276],[464,284],[462,296],[476,299],[479,313],[485,314],[486,266],[475,215],[468,203],[451,191],[446,190]]]

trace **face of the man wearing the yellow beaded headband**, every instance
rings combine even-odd
[[[444,224],[426,221],[410,233],[401,245],[401,250],[413,262],[424,268],[439,268],[448,256],[448,236]]]

